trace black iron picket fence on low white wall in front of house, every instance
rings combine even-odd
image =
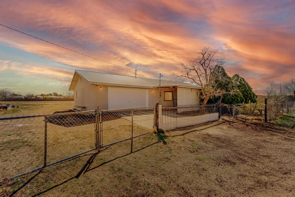
[[[218,120],[218,104],[212,105],[159,105],[159,128],[165,131]]]

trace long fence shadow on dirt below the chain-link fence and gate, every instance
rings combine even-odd
[[[39,190],[36,189],[35,193],[32,193],[30,196],[39,196],[41,194],[45,194],[46,192],[57,188],[68,181],[80,178],[82,174],[98,169],[99,167],[102,167],[103,165],[116,159],[126,157],[159,143],[153,133],[150,133],[148,136],[142,136],[139,140],[145,141],[142,144],[139,144],[138,142],[134,144],[133,152],[130,150],[130,141],[126,141],[108,146],[102,149],[99,153],[93,151],[93,153],[90,152],[90,154],[84,154],[62,162],[58,165],[40,170],[35,174],[30,174],[26,176],[27,179],[24,180],[22,185],[12,185],[12,188],[14,189],[13,192],[10,193],[10,196],[17,194],[22,195],[25,193],[25,191],[22,191],[22,189],[27,185],[40,185],[40,183],[44,183],[44,185],[39,188]],[[114,149],[117,151],[114,152]],[[50,183],[52,180],[55,180],[54,183]],[[13,183],[13,181],[14,180],[11,180],[10,184]]]

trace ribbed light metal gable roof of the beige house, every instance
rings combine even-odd
[[[105,84],[105,85],[121,85],[121,86],[136,86],[136,87],[165,87],[165,86],[178,86],[178,87],[190,87],[190,88],[200,88],[200,86],[192,85],[185,82],[175,82],[175,81],[165,81],[161,80],[161,85],[159,86],[158,79],[146,79],[134,76],[124,76],[117,74],[107,74],[93,71],[83,71],[75,70],[71,85],[69,90],[74,90],[76,82],[78,80],[78,75],[82,76],[86,82],[90,84]]]

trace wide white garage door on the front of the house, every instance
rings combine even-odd
[[[109,110],[148,106],[148,89],[108,88]]]

